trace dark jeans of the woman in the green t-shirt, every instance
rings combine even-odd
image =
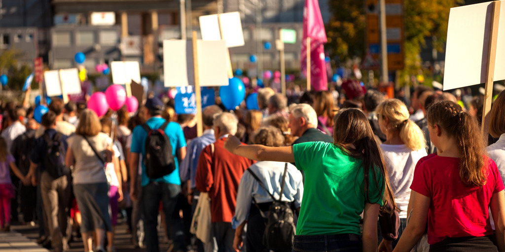
[[[293,252],[362,251],[361,235],[295,235]]]

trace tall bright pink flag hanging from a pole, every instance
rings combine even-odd
[[[307,75],[307,38],[311,38],[311,85],[315,91],[328,90],[323,44],[327,42],[318,0],[306,0],[304,39],[301,41],[301,71]]]

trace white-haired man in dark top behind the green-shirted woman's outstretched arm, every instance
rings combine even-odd
[[[293,104],[289,107],[289,129],[291,135],[298,137],[294,144],[306,142],[327,142],[333,143],[333,137],[326,135],[317,128],[317,114],[309,104]]]

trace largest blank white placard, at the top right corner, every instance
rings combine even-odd
[[[451,8],[443,90],[486,82],[492,2]],[[505,79],[505,5],[501,5],[494,80]]]

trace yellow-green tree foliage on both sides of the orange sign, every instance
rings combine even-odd
[[[405,18],[405,73],[421,68],[420,52],[426,47],[426,37],[433,37],[433,47],[443,51],[447,37],[449,9],[463,4],[463,0],[403,0]],[[363,57],[366,38],[364,0],[329,0],[332,17],[326,25],[332,56],[341,61],[354,56]]]

